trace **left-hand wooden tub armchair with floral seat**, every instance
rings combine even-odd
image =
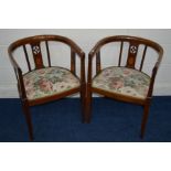
[[[61,49],[62,46],[68,49],[68,57],[71,56],[70,70],[52,65],[52,56],[57,56],[58,52],[62,53],[64,51]],[[31,106],[50,103],[79,93],[84,111],[85,53],[72,40],[60,35],[35,35],[12,43],[8,52],[18,81],[18,90],[31,141],[33,140]],[[81,60],[81,77],[76,75],[77,56]],[[24,62],[26,68],[21,67]],[[24,70],[25,72],[23,72]]]

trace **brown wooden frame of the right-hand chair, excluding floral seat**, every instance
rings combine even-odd
[[[92,86],[93,58],[96,57],[96,75],[97,75],[101,72],[100,50],[103,46],[105,46],[106,44],[111,43],[111,42],[120,42],[119,61],[118,61],[118,65],[117,65],[118,67],[121,66],[121,56],[122,56],[122,50],[124,50],[125,42],[129,43],[126,67],[133,68],[133,70],[137,70],[135,66],[135,63],[136,63],[136,56],[137,56],[139,45],[140,44],[145,45],[140,67],[138,68],[139,72],[142,72],[142,66],[145,64],[143,62],[146,58],[147,49],[151,47],[158,53],[158,58],[153,66],[152,74],[150,76],[151,77],[150,86],[149,86],[149,90],[148,90],[148,95],[147,95],[146,99],[139,99],[136,97],[118,95],[118,94],[101,90],[101,89],[98,89],[98,88],[95,88]],[[135,47],[137,51],[135,51],[133,53],[130,53],[131,51],[133,51],[133,50],[131,50],[131,47]],[[153,92],[153,84],[154,84],[154,79],[156,79],[156,75],[157,75],[160,62],[162,60],[162,55],[163,55],[163,49],[158,43],[147,40],[147,39],[142,39],[142,38],[118,35],[118,36],[108,36],[108,38],[105,38],[105,39],[100,40],[99,42],[97,42],[97,44],[93,47],[93,50],[88,54],[88,81],[87,81],[87,86],[86,86],[87,95],[86,95],[85,122],[90,122],[92,94],[97,93],[97,94],[104,95],[105,97],[110,97],[110,98],[114,98],[117,100],[121,100],[121,101],[126,101],[126,103],[133,103],[133,104],[143,106],[143,117],[142,117],[142,122],[141,122],[141,133],[140,133],[141,138],[143,138],[146,124],[148,120],[150,101],[151,101],[152,92]]]

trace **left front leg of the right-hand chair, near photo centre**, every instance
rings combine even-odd
[[[87,84],[86,86],[86,114],[85,114],[85,119],[84,122],[89,124],[90,118],[92,118],[92,90],[90,90],[90,85]]]

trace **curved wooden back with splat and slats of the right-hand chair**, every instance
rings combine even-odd
[[[126,44],[128,44],[128,52],[127,52],[127,60],[126,60],[126,67],[129,68],[136,68],[136,60],[138,56],[138,52],[140,46],[143,46],[142,53],[141,53],[141,58],[140,58],[140,65],[138,66],[138,71],[142,71],[145,60],[147,56],[147,50],[148,49],[153,49],[158,53],[158,60],[161,61],[163,50],[162,47],[150,40],[142,39],[142,38],[136,38],[136,36],[127,36],[127,35],[118,35],[118,36],[109,36],[100,40],[97,42],[97,44],[94,46],[94,49],[89,52],[89,60],[96,56],[96,73],[100,72],[100,51],[101,47],[105,46],[108,43],[120,43],[119,47],[119,60],[118,60],[118,66],[121,66],[121,61],[122,61],[122,54],[124,54],[124,47]],[[92,62],[89,62],[92,63]],[[92,64],[89,64],[92,66]],[[90,70],[90,68],[89,68]]]

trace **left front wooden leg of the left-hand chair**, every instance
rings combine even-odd
[[[31,141],[33,141],[33,127],[32,127],[32,121],[31,121],[31,114],[30,114],[30,109],[29,109],[29,105],[26,101],[23,101],[23,111],[25,115],[25,119],[26,119],[26,124],[28,124],[28,128],[29,128],[29,138]]]

